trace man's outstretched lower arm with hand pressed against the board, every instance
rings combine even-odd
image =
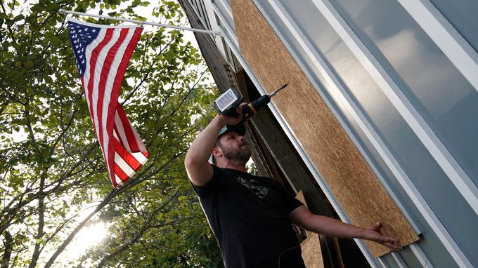
[[[299,206],[295,210],[292,210],[292,212],[289,213],[289,217],[295,225],[312,232],[324,234],[325,236],[335,236],[346,239],[367,239],[387,246],[392,250],[401,250],[399,241],[392,237],[382,235],[380,232],[382,225],[379,222],[368,229],[363,229],[355,225],[340,222],[331,217],[315,215],[311,213],[306,206]]]

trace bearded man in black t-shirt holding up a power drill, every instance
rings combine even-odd
[[[241,114],[243,105],[236,112]],[[242,119],[218,114],[202,130],[186,154],[185,166],[216,236],[227,268],[304,267],[291,223],[326,236],[375,241],[400,250],[396,239],[382,236],[380,223],[363,229],[314,215],[285,192],[278,182],[247,173],[251,151]],[[208,160],[212,155],[214,164]]]

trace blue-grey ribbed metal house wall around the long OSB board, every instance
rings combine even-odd
[[[369,263],[478,267],[475,1],[252,2],[421,234],[380,258],[361,246]],[[240,51],[230,1],[209,4],[227,46],[266,93]],[[270,106],[337,213],[349,220],[290,122]]]

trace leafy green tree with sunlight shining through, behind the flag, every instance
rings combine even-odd
[[[148,2],[0,4],[1,268],[62,266],[68,244],[98,221],[109,223],[110,236],[70,265],[220,266],[183,168],[183,154],[214,100],[198,50],[176,30],[143,32],[120,100],[151,156],[129,182],[112,189],[58,10],[99,8],[144,20],[135,8]],[[183,23],[172,1],[149,10],[161,22]],[[89,215],[79,219],[86,208]]]

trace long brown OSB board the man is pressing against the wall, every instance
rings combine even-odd
[[[358,149],[316,89],[251,0],[231,0],[240,51],[269,92],[289,87],[273,98],[330,191],[354,225],[382,222],[383,234],[402,246],[418,240],[399,208],[385,192]],[[366,241],[379,257],[389,249]]]

